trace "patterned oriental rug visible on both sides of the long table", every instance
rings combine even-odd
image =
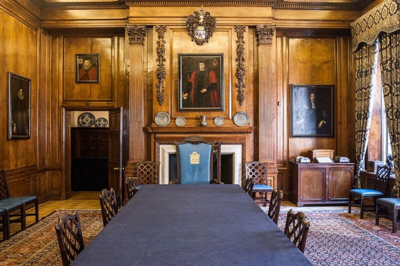
[[[0,265],[62,265],[54,224],[62,213],[56,211],[39,223],[0,243]],[[87,245],[102,229],[97,210],[77,211]],[[400,233],[391,233],[391,221],[375,226],[371,213],[359,219],[359,212],[344,210],[304,211],[310,221],[305,256],[314,265],[399,265]],[[279,217],[283,230],[286,211]]]

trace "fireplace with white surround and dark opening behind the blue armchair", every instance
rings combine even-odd
[[[176,148],[175,145],[159,145],[159,184],[168,184],[176,178]],[[241,185],[242,145],[221,145],[221,181],[226,184]]]

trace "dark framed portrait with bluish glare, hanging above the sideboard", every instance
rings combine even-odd
[[[290,137],[333,137],[333,87],[290,84]]]

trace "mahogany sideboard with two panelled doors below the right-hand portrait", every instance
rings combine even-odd
[[[290,160],[289,200],[305,204],[347,204],[354,179],[353,163],[298,164]]]

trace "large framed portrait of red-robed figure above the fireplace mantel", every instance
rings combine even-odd
[[[179,111],[223,110],[223,54],[178,54]]]

